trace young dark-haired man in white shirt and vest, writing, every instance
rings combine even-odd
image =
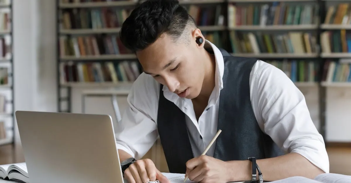
[[[129,182],[168,182],[151,160],[139,160],[158,137],[170,172],[196,182],[251,180],[249,157],[266,181],[329,172],[323,138],[285,73],[205,40],[177,0],[142,3],[120,37],[144,69],[116,133]]]

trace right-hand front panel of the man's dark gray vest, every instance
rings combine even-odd
[[[214,158],[223,161],[246,160],[252,156],[262,158],[262,133],[252,110],[249,85],[250,72],[256,61],[239,62],[226,51],[221,52],[224,72],[217,126],[222,132],[216,140]]]

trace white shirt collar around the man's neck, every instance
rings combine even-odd
[[[215,71],[214,77],[216,77],[217,79],[215,80],[214,91],[216,93],[216,101],[217,101],[219,98],[219,91],[223,89],[223,79],[222,79],[223,72],[224,72],[223,55],[221,51],[216,47],[216,45],[214,45],[208,40],[205,40],[204,48],[209,52],[213,52],[215,61],[216,61],[216,71]],[[162,90],[164,91],[165,98],[167,98],[168,100],[172,101],[177,98],[180,99],[180,97],[176,93],[170,92],[166,85],[163,85]]]

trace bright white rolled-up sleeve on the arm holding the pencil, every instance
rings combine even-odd
[[[250,80],[251,100],[261,129],[283,150],[298,153],[325,173],[329,158],[305,97],[286,74],[258,61]]]

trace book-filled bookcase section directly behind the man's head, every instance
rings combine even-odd
[[[211,20],[195,19],[195,21],[208,40],[216,42],[214,40],[218,37],[225,39],[226,0],[181,0],[180,4],[192,15],[202,10],[217,13],[217,17],[212,17]],[[57,0],[60,112],[72,111],[72,88],[128,87],[140,74],[141,66],[135,62],[137,57],[123,48],[118,36],[122,22],[136,5],[135,0],[109,2]],[[116,21],[105,24],[104,19],[99,17],[110,17]],[[222,41],[216,44],[227,47]],[[127,66],[128,64],[132,65]],[[92,72],[95,71],[97,74],[93,75]],[[62,103],[66,103],[67,107],[65,108]]]

